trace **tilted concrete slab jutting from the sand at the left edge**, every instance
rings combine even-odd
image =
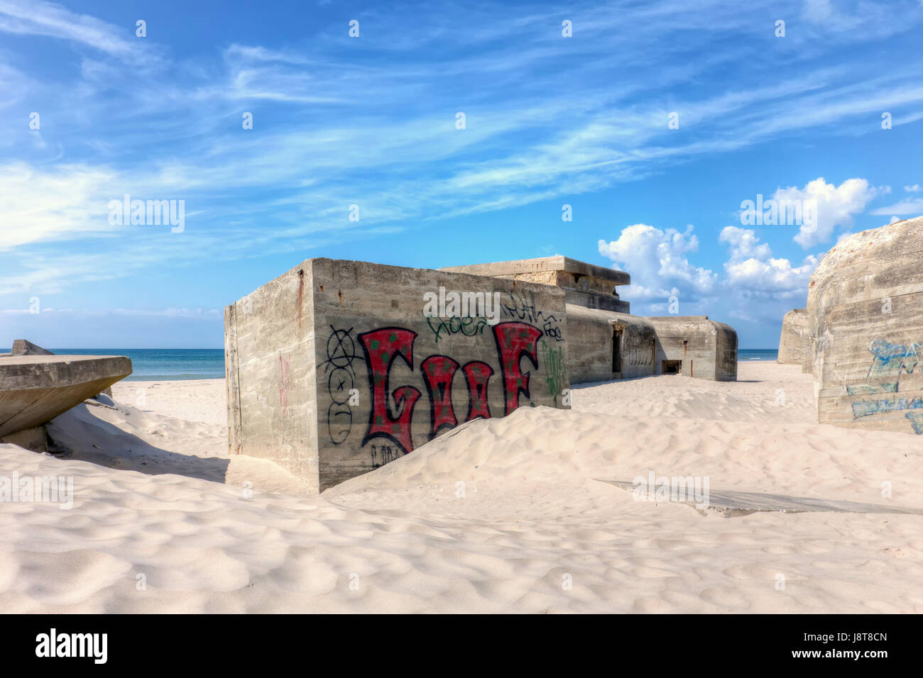
[[[0,355],[0,442],[45,451],[45,423],[130,374],[125,356],[54,355],[17,340]]]

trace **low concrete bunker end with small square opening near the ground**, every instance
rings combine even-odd
[[[737,332],[706,315],[645,316],[657,333],[656,374],[679,362],[679,374],[713,381],[737,380]]]

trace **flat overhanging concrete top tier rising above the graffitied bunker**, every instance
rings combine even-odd
[[[619,299],[617,292],[618,285],[631,283],[628,273],[615,268],[593,266],[568,256],[497,261],[439,270],[555,285],[564,289],[567,303],[617,313],[629,312],[629,303]]]

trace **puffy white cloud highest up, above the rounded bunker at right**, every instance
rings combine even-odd
[[[852,225],[853,218],[865,209],[870,200],[890,192],[887,186],[869,186],[866,179],[846,179],[837,186],[818,177],[805,184],[804,188],[779,188],[773,198],[777,201],[798,200],[802,205],[813,203],[816,206],[816,223],[810,224],[806,220],[793,238],[797,244],[808,249],[828,242],[837,228]]]

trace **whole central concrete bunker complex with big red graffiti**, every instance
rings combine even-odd
[[[737,378],[737,334],[629,315],[629,274],[564,256],[400,268],[308,259],[224,313],[232,454],[315,492],[462,422],[568,408],[571,382]]]

